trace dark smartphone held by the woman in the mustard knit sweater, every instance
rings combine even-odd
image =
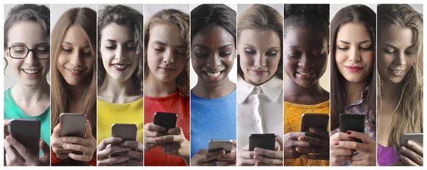
[[[310,132],[310,127],[327,131],[329,115],[321,113],[302,114],[301,132]]]

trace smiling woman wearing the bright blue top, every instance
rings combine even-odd
[[[191,11],[191,166],[236,166],[236,84],[228,78],[236,58],[236,11],[201,4]],[[221,106],[221,107],[216,107]],[[233,142],[230,153],[208,153],[209,140]]]

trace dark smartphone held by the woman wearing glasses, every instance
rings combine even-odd
[[[38,158],[40,147],[40,120],[38,119],[11,119],[10,133],[19,143],[21,143],[27,152]]]

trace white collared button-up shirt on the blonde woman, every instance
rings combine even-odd
[[[273,75],[260,86],[237,78],[237,148],[249,144],[251,134],[283,136],[283,80]]]

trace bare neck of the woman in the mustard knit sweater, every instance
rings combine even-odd
[[[285,85],[283,93],[290,96],[320,96],[324,91],[318,81],[311,87],[302,87],[294,83],[292,80],[285,80],[283,84]]]

